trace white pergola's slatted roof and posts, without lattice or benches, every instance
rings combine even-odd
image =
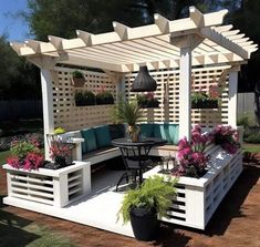
[[[180,136],[190,138],[191,68],[229,64],[229,113],[237,112],[237,80],[239,65],[250,59],[258,49],[249,38],[222,25],[227,10],[202,14],[195,7],[189,17],[169,21],[155,14],[155,23],[128,28],[113,22],[114,32],[92,34],[77,30],[77,38],[49,37],[50,42],[29,40],[11,43],[21,56],[41,69],[44,131],[53,128],[51,70],[55,64],[98,68],[122,78],[124,73],[138,71],[139,65],[149,70],[177,69],[180,71],[179,130]],[[229,116],[236,126],[236,114]]]

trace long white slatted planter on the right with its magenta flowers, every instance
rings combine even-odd
[[[223,140],[221,146],[218,140]],[[216,143],[215,143],[216,141]],[[214,143],[212,143],[214,142]],[[216,144],[216,145],[215,145]],[[217,126],[209,135],[197,127],[193,141],[179,142],[178,165],[169,171],[178,176],[177,197],[164,222],[205,229],[212,214],[242,172],[242,153],[238,132],[230,126]],[[144,177],[162,173],[162,166],[146,172]]]

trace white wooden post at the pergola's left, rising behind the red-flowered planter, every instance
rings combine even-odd
[[[44,128],[44,150],[45,158],[50,159],[48,134],[53,133],[53,95],[52,95],[52,78],[50,70],[41,69],[42,84],[42,105],[43,105],[43,128]]]

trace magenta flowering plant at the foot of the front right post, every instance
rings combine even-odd
[[[179,164],[171,171],[173,175],[189,177],[201,176],[209,161],[209,156],[204,153],[209,141],[209,135],[202,134],[198,125],[193,128],[191,142],[188,142],[186,137],[180,140],[177,153]]]

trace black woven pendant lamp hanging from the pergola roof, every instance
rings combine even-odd
[[[156,81],[149,75],[147,66],[141,66],[135,78],[131,92],[152,92],[156,91]]]

